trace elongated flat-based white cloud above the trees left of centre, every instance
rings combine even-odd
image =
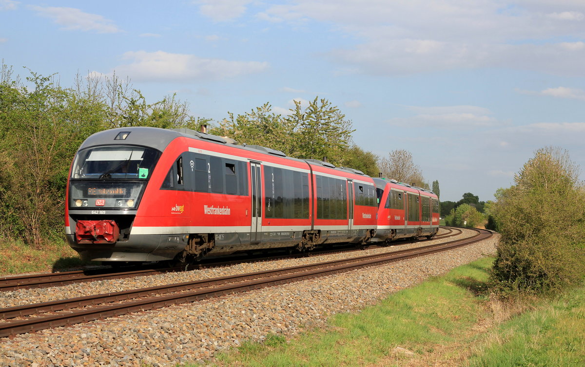
[[[116,72],[136,81],[216,80],[262,72],[269,67],[266,62],[228,61],[164,51],[128,51],[122,58],[129,63],[116,67]]]

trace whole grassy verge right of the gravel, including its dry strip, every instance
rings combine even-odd
[[[325,330],[267,335],[218,356],[226,366],[583,366],[585,286],[547,300],[490,299],[493,258],[394,293]]]

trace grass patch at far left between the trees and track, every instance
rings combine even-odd
[[[53,271],[85,264],[65,242],[46,243],[36,249],[22,242],[0,240],[0,276]]]

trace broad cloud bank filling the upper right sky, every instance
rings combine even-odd
[[[335,74],[486,67],[585,74],[583,42],[550,41],[585,38],[579,22],[585,1],[531,1],[297,0],[270,6],[259,18],[292,24],[311,19],[353,37],[355,46],[325,51],[340,64]]]

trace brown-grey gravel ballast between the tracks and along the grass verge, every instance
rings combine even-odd
[[[469,237],[464,230],[461,237]],[[439,241],[439,240],[438,240]],[[442,240],[444,241],[444,240]],[[9,366],[153,366],[209,361],[220,349],[244,340],[261,341],[267,334],[290,337],[302,327],[322,325],[335,313],[357,311],[389,293],[440,275],[456,266],[495,253],[497,235],[452,251],[426,255],[389,265],[309,279],[202,302],[59,327],[0,339],[0,365]],[[418,244],[404,245],[417,247]],[[404,248],[400,246],[400,248]],[[80,283],[46,289],[0,293],[0,307],[46,302],[124,289],[185,282],[355,257],[356,254],[238,264],[185,273],[167,273],[130,279]],[[34,301],[33,301],[34,300]]]

